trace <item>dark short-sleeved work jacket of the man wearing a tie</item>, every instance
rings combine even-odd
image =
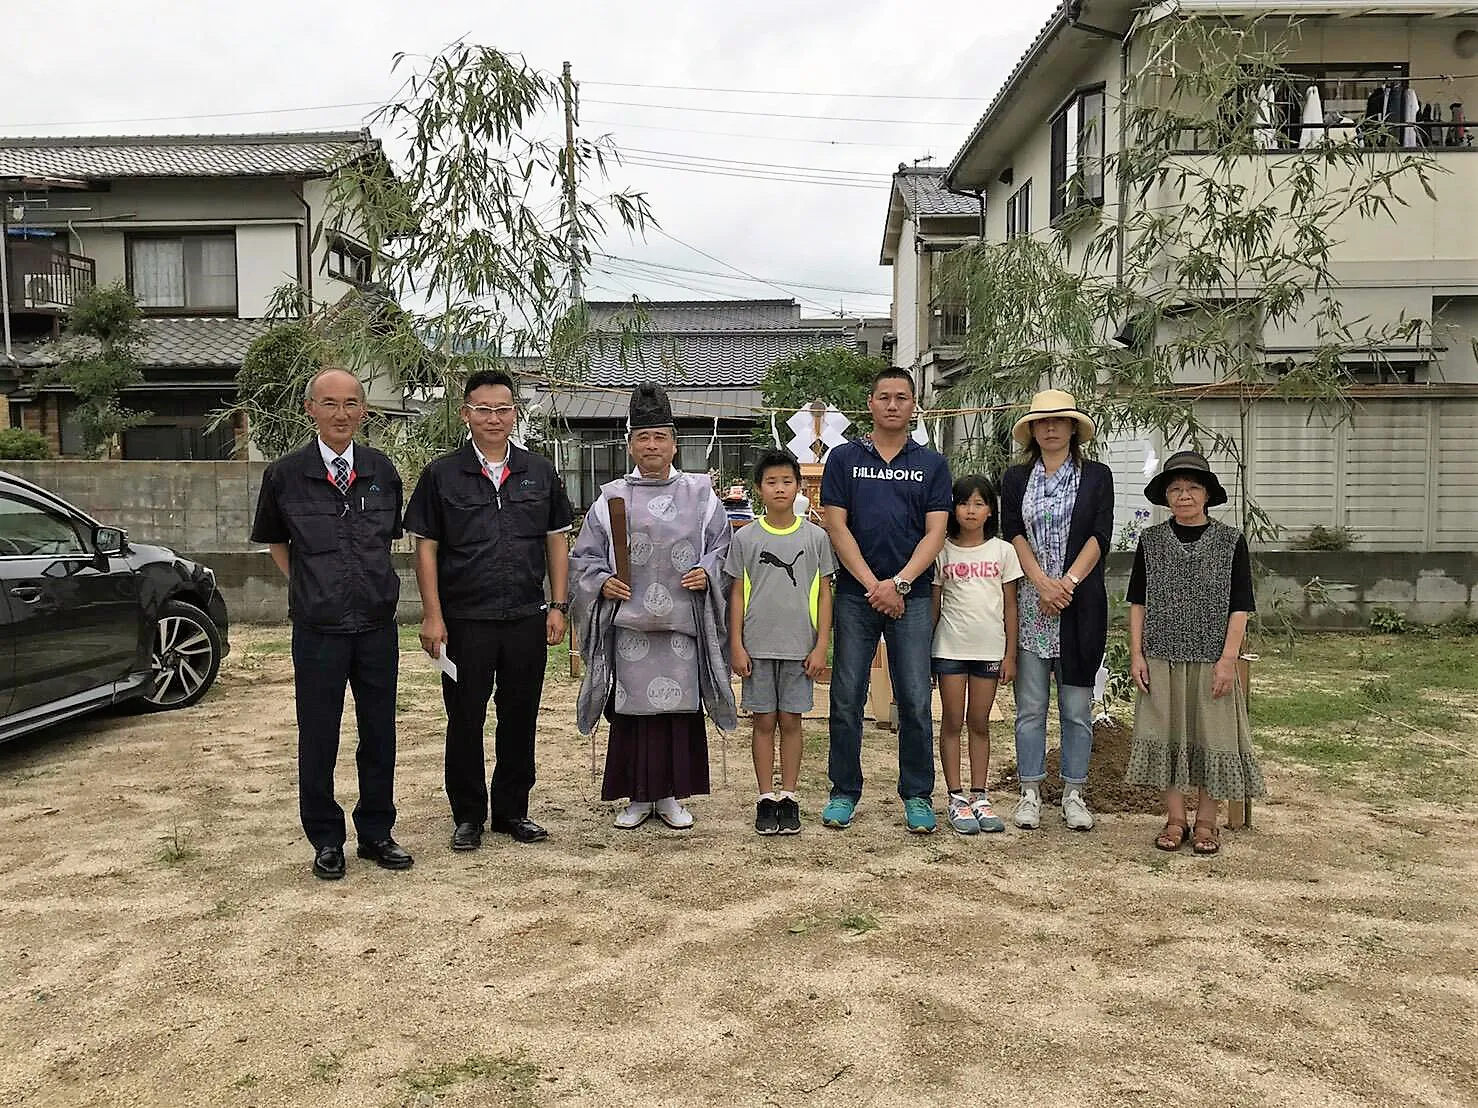
[[[353,474],[341,493],[315,436],[268,467],[251,526],[253,542],[288,545],[288,616],[325,634],[381,628],[401,600],[390,560],[390,541],[401,536],[401,474],[358,442]]]

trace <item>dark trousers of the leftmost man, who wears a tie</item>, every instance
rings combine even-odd
[[[297,804],[313,848],[344,844],[344,810],[334,799],[338,725],[344,687],[355,693],[359,724],[361,841],[390,838],[395,826],[395,688],[401,641],[395,623],[374,631],[327,635],[293,625],[293,687],[297,691]]]

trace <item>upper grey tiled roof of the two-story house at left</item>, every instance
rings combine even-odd
[[[378,148],[368,131],[0,137],[0,177],[310,177]]]

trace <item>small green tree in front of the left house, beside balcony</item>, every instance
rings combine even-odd
[[[93,456],[111,451],[123,431],[149,418],[123,402],[123,390],[143,381],[139,355],[146,340],[127,285],[98,285],[78,293],[59,344],[61,360],[38,375],[40,383],[64,384],[77,396],[72,418]]]

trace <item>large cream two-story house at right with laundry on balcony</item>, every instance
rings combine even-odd
[[[952,192],[983,194],[986,242],[1045,235],[1082,204],[1123,216],[1119,183],[1104,154],[1122,149],[1119,105],[1135,96],[1137,74],[1153,72],[1151,24],[1191,18],[1230,21],[1259,41],[1284,43],[1283,66],[1307,78],[1302,95],[1320,105],[1318,127],[1361,134],[1367,103],[1414,99],[1429,126],[1386,126],[1369,157],[1420,148],[1437,163],[1428,195],[1414,176],[1401,179],[1391,217],[1344,217],[1335,228],[1332,270],[1345,319],[1380,329],[1403,319],[1428,322],[1419,343],[1392,343],[1364,363],[1346,362],[1358,405],[1344,421],[1308,403],[1258,396],[1239,384],[1213,384],[1208,369],[1184,371],[1206,384],[1197,414],[1243,443],[1253,498],[1293,538],[1312,524],[1346,526],[1373,550],[1474,550],[1478,547],[1478,222],[1472,216],[1478,148],[1465,105],[1478,105],[1478,4],[1417,0],[1064,0],[1030,43],[968,140],[947,167]],[[1407,92],[1413,96],[1407,98]],[[1307,121],[1295,105],[1268,105],[1261,149],[1236,155],[1249,180],[1271,165],[1286,171],[1307,145]],[[1307,108],[1305,108],[1307,109]],[[1435,120],[1434,120],[1435,114]],[[1406,120],[1406,117],[1400,117]],[[1420,117],[1417,117],[1420,118]],[[1333,120],[1330,124],[1329,121]],[[1354,129],[1354,130],[1349,130]],[[1196,136],[1176,158],[1205,157]],[[1271,160],[1271,161],[1270,161]],[[1283,168],[1278,168],[1281,164]],[[1151,202],[1174,211],[1169,191]],[[1113,264],[1113,259],[1108,260]],[[1147,281],[1123,273],[1126,282]],[[1278,365],[1310,356],[1314,328],[1298,321],[1249,337]],[[1250,390],[1258,391],[1258,390]],[[1244,411],[1246,409],[1246,411]],[[1244,418],[1243,418],[1244,417]],[[1142,507],[1147,454],[1163,458],[1176,443],[1151,439],[1106,445],[1116,471],[1119,514]],[[1227,458],[1216,459],[1236,476]],[[1231,489],[1230,489],[1231,490]],[[1240,489],[1234,489],[1240,498]],[[1228,517],[1237,517],[1237,499]]]

